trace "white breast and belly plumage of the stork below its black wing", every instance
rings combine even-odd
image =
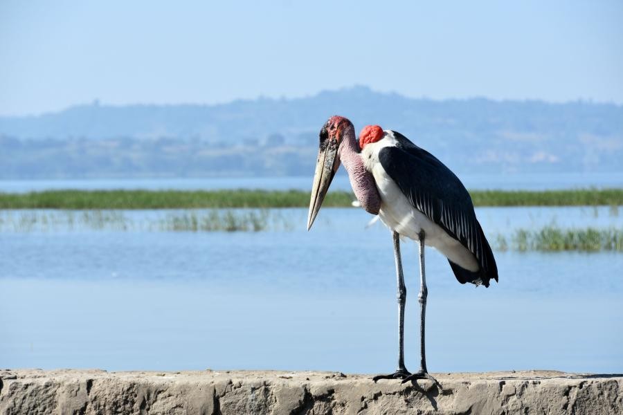
[[[381,163],[374,163],[372,175],[374,181],[377,182],[377,188],[383,201],[379,216],[388,228],[415,241],[419,241],[419,232],[424,230],[425,245],[436,248],[446,258],[462,268],[472,272],[478,271],[480,266],[476,257],[439,225],[428,219],[428,216],[415,209],[385,172]]]

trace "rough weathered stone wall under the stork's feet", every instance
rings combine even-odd
[[[623,414],[623,375],[0,370],[0,414]]]

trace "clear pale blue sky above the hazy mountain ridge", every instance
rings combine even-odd
[[[623,104],[622,22],[619,0],[0,0],[0,115],[353,85]]]

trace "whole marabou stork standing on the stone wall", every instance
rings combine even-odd
[[[393,374],[375,376],[374,381],[399,378],[407,382],[428,378],[439,385],[426,369],[424,245],[442,252],[461,284],[471,282],[488,287],[490,279],[498,281],[496,260],[476,219],[471,197],[448,167],[401,133],[368,125],[357,141],[352,122],[334,116],[320,130],[307,230],[314,223],[340,164],[348,172],[361,207],[378,214],[392,230],[398,279],[398,368]],[[420,366],[413,374],[404,365],[406,288],[400,257],[401,237],[419,241]]]

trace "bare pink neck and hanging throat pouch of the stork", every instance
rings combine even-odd
[[[340,161],[348,172],[352,191],[361,203],[361,208],[368,213],[378,214],[381,209],[381,196],[374,182],[374,176],[363,166],[352,124],[343,132],[339,151]]]

